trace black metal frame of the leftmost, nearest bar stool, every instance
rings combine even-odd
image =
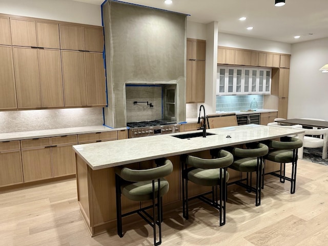
[[[123,237],[122,233],[122,217],[137,213],[142,219],[144,219],[153,228],[154,234],[154,245],[157,246],[161,244],[161,222],[162,222],[162,198],[160,197],[160,179],[157,179],[157,197],[155,198],[155,180],[152,180],[152,205],[140,208],[125,214],[122,214],[121,208],[121,181],[122,179],[119,175],[115,174],[115,187],[116,187],[116,218],[117,218],[117,235]],[[155,203],[155,199],[157,203]],[[159,202],[158,202],[159,201]],[[140,205],[141,206],[141,205]],[[157,219],[156,219],[156,207],[157,207]],[[153,209],[153,214],[150,215],[146,210]],[[156,241],[156,224],[158,226],[159,240]]]

